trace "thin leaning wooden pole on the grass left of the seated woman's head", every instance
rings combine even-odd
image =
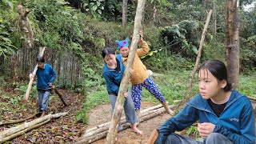
[[[177,107],[183,106],[186,102],[188,102],[190,100],[193,78],[194,78],[194,74],[198,70],[198,64],[200,62],[201,53],[202,53],[202,46],[203,46],[203,42],[205,41],[205,38],[206,38],[206,32],[207,32],[207,28],[208,28],[208,25],[209,25],[209,22],[210,22],[210,15],[211,15],[212,11],[213,10],[210,10],[209,12],[206,11],[206,13],[207,13],[206,24],[204,26],[204,29],[202,30],[202,37],[201,37],[201,41],[200,41],[200,45],[199,45],[199,49],[198,49],[198,57],[197,57],[197,60],[194,64],[194,69],[193,69],[193,71],[190,75],[190,79],[189,79],[189,83],[188,83],[188,90],[186,92],[186,98],[185,98],[185,101],[182,101],[180,104],[178,104]]]

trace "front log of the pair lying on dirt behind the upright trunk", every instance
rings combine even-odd
[[[159,114],[164,113],[165,111],[166,110],[162,107],[162,108],[159,108],[158,110],[149,111],[149,114],[144,113],[145,115],[143,117],[139,117],[140,122],[146,121],[150,118],[154,118],[154,117],[158,116]],[[122,127],[123,127],[122,130],[125,130],[128,127],[130,127],[130,123],[124,123],[124,124],[122,124]],[[102,131],[98,134],[90,135],[90,137],[80,137],[80,138],[78,138],[78,142],[75,142],[75,143],[77,143],[77,144],[90,143],[90,142],[95,142],[102,138],[106,138],[107,131],[108,131],[108,129],[106,129],[105,131]]]

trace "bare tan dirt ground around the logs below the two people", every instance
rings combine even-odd
[[[146,109],[150,106],[154,106],[154,104],[149,103],[149,102],[142,102],[142,110]],[[102,105],[96,107],[94,110],[90,110],[89,114],[89,126],[86,128],[90,129],[91,127],[98,126],[102,123],[109,122],[111,119],[111,106],[110,104]],[[118,132],[118,141],[117,143],[119,144],[141,144],[141,143],[146,143],[148,138],[150,138],[151,132],[155,129],[158,128],[163,122],[166,121],[166,119],[170,118],[170,114],[160,114],[155,118],[151,118],[147,121],[141,122],[138,126],[139,130],[143,131],[143,135],[138,135],[135,134],[134,132],[131,131],[130,128],[126,130],[122,130]],[[104,143],[105,138],[98,140],[96,142],[93,142],[94,144],[102,144]]]

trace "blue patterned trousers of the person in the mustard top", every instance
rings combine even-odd
[[[166,99],[162,96],[162,93],[158,89],[158,86],[153,82],[149,77],[143,83],[138,85],[133,85],[131,88],[131,97],[134,101],[135,110],[140,110],[142,102],[142,86],[146,88],[151,94],[154,95],[154,98],[157,98],[159,102],[166,102]]]

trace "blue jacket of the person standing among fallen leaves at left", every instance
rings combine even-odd
[[[56,72],[52,66],[46,63],[44,69],[38,67],[37,78],[38,78],[38,84],[37,84],[38,90],[51,89],[49,84],[54,83],[54,80],[56,78]]]

